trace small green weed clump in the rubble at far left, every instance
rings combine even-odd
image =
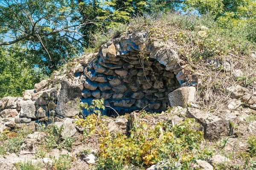
[[[20,136],[11,138],[6,143],[6,149],[9,153],[20,153],[20,146],[23,140]]]

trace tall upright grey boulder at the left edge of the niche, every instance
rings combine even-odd
[[[66,77],[61,81],[56,112],[64,117],[73,117],[79,113],[83,84],[79,77]]]

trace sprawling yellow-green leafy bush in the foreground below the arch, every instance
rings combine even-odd
[[[195,159],[205,159],[211,152],[200,149],[203,133],[195,130],[197,126],[192,119],[175,127],[169,122],[150,126],[141,121],[130,131],[130,137],[105,132],[100,143],[98,169],[116,168],[120,164],[149,166],[161,160],[170,166],[180,160],[185,166]]]

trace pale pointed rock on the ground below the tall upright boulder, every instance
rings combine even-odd
[[[61,128],[61,137],[72,137],[76,134],[76,126],[72,123],[72,119],[66,118],[63,122],[55,122],[56,127]]]

